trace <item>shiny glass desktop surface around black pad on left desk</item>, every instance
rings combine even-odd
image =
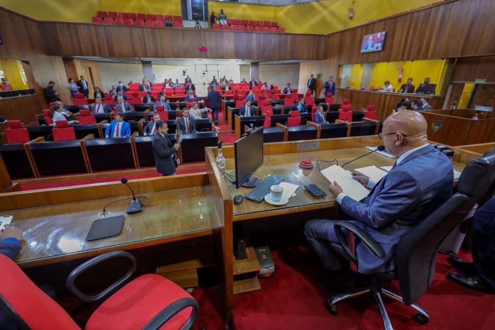
[[[24,231],[17,263],[47,259],[46,263],[74,259],[74,254],[117,247],[153,245],[153,240],[220,228],[209,187],[146,193],[151,204],[127,214],[130,199],[106,207],[108,217],[124,215],[117,236],[86,241],[93,221],[101,219],[105,204],[121,198],[8,211],[15,226]],[[145,200],[145,203],[147,201]],[[92,255],[99,254],[93,253]],[[49,258],[53,258],[52,261]]]

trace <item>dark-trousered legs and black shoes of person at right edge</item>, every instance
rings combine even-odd
[[[447,279],[468,289],[495,294],[495,197],[473,216],[473,262],[450,256],[446,260],[460,273],[448,273]]]

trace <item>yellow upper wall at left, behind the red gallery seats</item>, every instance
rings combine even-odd
[[[2,7],[43,21],[92,22],[99,10],[181,15],[181,0],[15,0]]]

